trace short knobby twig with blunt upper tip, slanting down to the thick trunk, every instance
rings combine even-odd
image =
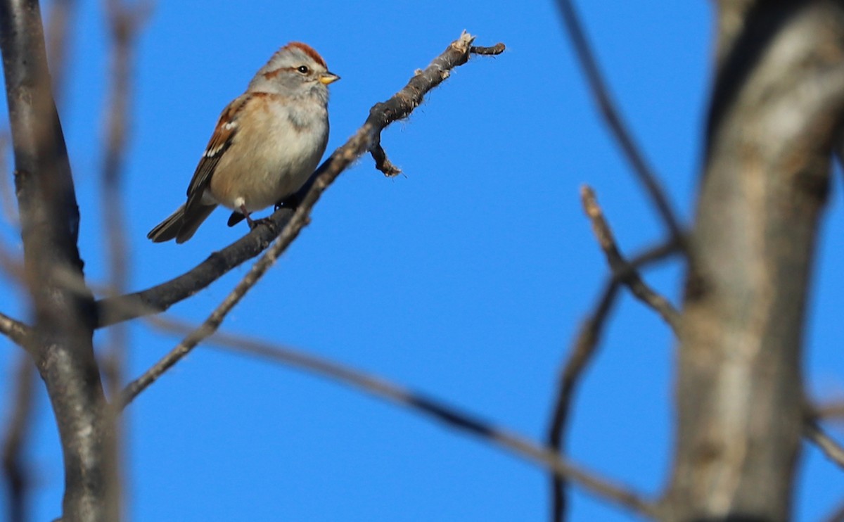
[[[589,220],[592,221],[592,231],[595,233],[595,237],[598,238],[598,243],[607,257],[609,268],[613,270],[614,274],[624,274],[621,276],[621,280],[630,288],[633,295],[648,307],[656,310],[663,320],[668,323],[668,326],[674,330],[674,334],[677,334],[680,326],[679,312],[668,302],[668,299],[653,291],[641,279],[635,269],[630,269],[630,264],[621,255],[619,247],[615,244],[613,232],[610,230],[607,220],[603,217],[603,212],[601,211],[601,207],[598,206],[598,201],[595,198],[592,188],[586,185],[581,188],[581,200],[583,209],[586,211],[587,216],[589,216]]]

